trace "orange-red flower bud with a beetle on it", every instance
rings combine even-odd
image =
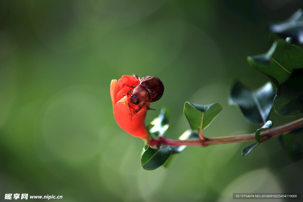
[[[112,80],[110,92],[117,124],[132,136],[146,139],[148,138],[148,132],[144,121],[147,108],[145,105],[142,105],[141,109],[134,114],[132,112],[134,104],[129,102],[130,94],[125,96],[129,90],[134,90],[132,86],[138,86],[139,82],[139,79],[135,76],[123,75],[118,82],[116,79]]]

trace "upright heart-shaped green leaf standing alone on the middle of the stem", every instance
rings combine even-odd
[[[221,111],[222,107],[219,103],[200,105],[185,102],[184,104],[184,114],[194,131],[202,131]]]

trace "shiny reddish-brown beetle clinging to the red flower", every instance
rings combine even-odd
[[[137,77],[136,75],[133,75]],[[138,77],[137,77],[138,78]],[[159,100],[164,92],[164,85],[162,81],[156,77],[156,76],[146,76],[143,78],[138,78],[140,83],[138,86],[129,86],[132,88],[135,88],[134,90],[129,90],[126,94],[132,94],[130,96],[129,102],[131,104],[134,104],[132,111],[133,113],[136,113],[140,110],[141,105],[145,105],[147,109],[151,109],[148,107],[148,104],[151,102],[155,102]],[[126,84],[123,84],[126,85]],[[138,109],[135,109],[135,104],[138,105]],[[155,109],[152,109],[155,110]]]

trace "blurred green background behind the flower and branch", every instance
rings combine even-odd
[[[230,84],[239,78],[259,88],[269,80],[246,57],[268,50],[268,21],[302,7],[300,0],[2,0],[0,201],[9,193],[68,202],[300,193],[302,161],[289,160],[278,138],[247,157],[241,150],[253,142],[188,147],[169,169],[143,170],[144,142],[116,124],[109,84],[122,75],[159,77],[165,92],[146,123],[168,106],[169,138],[189,129],[185,101],[222,105],[207,137],[254,132],[259,126],[228,105]],[[270,120],[296,118],[272,112]]]

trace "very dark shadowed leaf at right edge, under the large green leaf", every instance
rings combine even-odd
[[[277,90],[275,111],[284,116],[303,114],[303,69],[295,69]]]

